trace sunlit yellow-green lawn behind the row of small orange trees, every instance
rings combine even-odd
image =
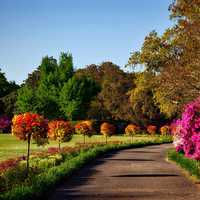
[[[148,139],[150,136],[148,135],[136,135],[134,136],[134,141],[139,139]],[[104,142],[105,137],[102,135],[93,135],[91,138],[86,137],[87,142]],[[112,136],[108,138],[108,141],[125,141],[131,142],[131,137],[127,136]],[[83,142],[83,136],[74,135],[73,139],[70,142],[62,143],[61,147],[64,146],[74,146],[76,142]],[[31,151],[44,151],[48,147],[57,147],[58,144],[56,141],[50,141],[48,145],[45,147],[38,147],[36,144],[31,144]],[[0,161],[15,158],[16,156],[26,155],[27,143],[17,140],[16,137],[10,134],[0,134]]]

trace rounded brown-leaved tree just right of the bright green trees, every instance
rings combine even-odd
[[[132,108],[128,91],[133,87],[134,74],[125,73],[111,62],[104,62],[76,72],[78,77],[85,75],[92,77],[101,86],[101,91],[90,104],[89,118],[131,120]]]

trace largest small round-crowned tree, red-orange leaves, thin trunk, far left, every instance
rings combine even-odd
[[[15,115],[12,119],[12,134],[18,139],[27,141],[27,175],[29,172],[29,155],[31,139],[38,145],[48,142],[47,127],[48,122],[43,116],[34,113],[24,113]]]

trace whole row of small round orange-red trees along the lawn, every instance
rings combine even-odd
[[[35,140],[38,145],[45,145],[48,143],[48,139],[58,141],[59,149],[62,142],[68,142],[71,140],[74,133],[84,136],[92,136],[93,124],[92,121],[82,121],[73,126],[69,121],[64,120],[52,120],[48,122],[43,116],[34,113],[24,113],[14,116],[12,120],[12,134],[18,139],[28,142],[27,151],[27,169],[29,169],[29,154],[31,139]],[[163,134],[167,134],[168,127],[161,128]],[[100,132],[107,138],[115,134],[116,127],[113,124],[104,122],[101,124]],[[132,136],[140,131],[139,127],[130,124],[125,129],[125,134]],[[156,133],[155,126],[148,126],[147,131],[150,134]]]

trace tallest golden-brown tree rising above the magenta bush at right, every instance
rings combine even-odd
[[[200,2],[175,0],[170,6],[174,27],[162,36],[151,32],[128,64],[154,72],[154,101],[168,118],[180,115],[185,103],[200,94]]]

